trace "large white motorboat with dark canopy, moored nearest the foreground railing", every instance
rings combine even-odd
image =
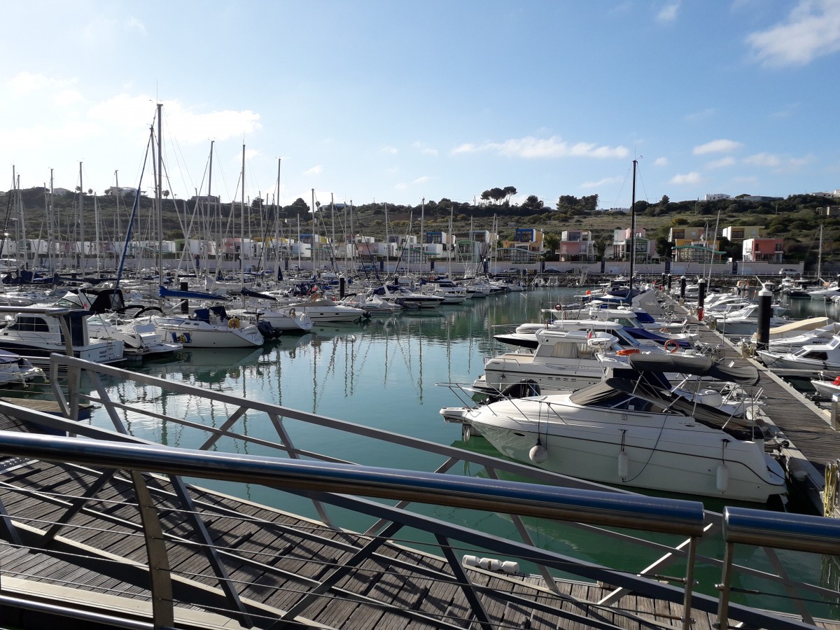
[[[501,454],[563,475],[738,501],[785,493],[785,471],[765,454],[758,427],[630,365],[632,372],[574,393],[440,413],[468,425],[467,438],[475,430]]]

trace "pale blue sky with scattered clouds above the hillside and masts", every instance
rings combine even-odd
[[[3,3],[6,184],[419,207],[840,189],[840,0]],[[243,149],[244,147],[244,149]],[[279,172],[279,186],[278,186]],[[312,192],[314,191],[314,193]]]

